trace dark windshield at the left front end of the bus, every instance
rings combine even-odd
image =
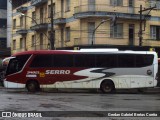
[[[22,56],[18,56],[10,59],[7,67],[6,75],[21,71],[29,57],[30,55],[22,55]]]

